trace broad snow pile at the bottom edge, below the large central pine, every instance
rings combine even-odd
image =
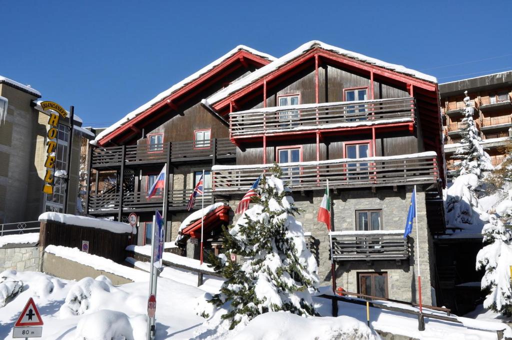
[[[279,325],[279,327],[269,327]],[[259,315],[230,340],[373,340],[380,338],[350,316],[301,317],[286,312]]]

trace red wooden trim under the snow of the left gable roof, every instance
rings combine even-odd
[[[246,58],[250,60],[253,64],[257,66],[264,66],[270,63],[270,60],[265,59],[263,57],[260,57],[258,55],[254,55],[250,52],[247,52],[245,50],[240,50],[237,53],[234,53],[232,56],[227,58],[226,60],[222,61],[219,65],[211,69],[210,71],[206,72],[205,74],[201,75],[199,78],[189,82],[185,86],[183,86],[181,89],[177,90],[176,92],[172,93],[166,98],[163,98],[160,100],[157,104],[154,104],[151,108],[147,109],[144,112],[141,112],[138,114],[135,118],[131,119],[130,121],[127,121],[125,124],[121,125],[117,130],[111,132],[110,134],[104,136],[98,141],[98,145],[102,146],[112,139],[118,137],[120,134],[124,133],[126,130],[130,129],[132,125],[135,123],[141,121],[142,119],[145,119],[148,115],[151,115],[153,112],[159,110],[160,108],[164,107],[164,105],[167,105],[167,101],[173,101],[178,99],[183,94],[187,93],[190,90],[193,90],[195,87],[197,87],[200,83],[208,80],[212,76],[218,75],[220,72],[224,71],[226,68],[228,68],[233,62],[240,62],[240,57]],[[229,69],[229,72],[231,72],[232,69]]]

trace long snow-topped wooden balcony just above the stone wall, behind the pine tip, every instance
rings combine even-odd
[[[245,193],[273,164],[216,165],[212,188],[216,195]],[[439,169],[435,152],[362,159],[333,159],[321,162],[280,164],[282,179],[292,190],[396,186],[435,183]]]

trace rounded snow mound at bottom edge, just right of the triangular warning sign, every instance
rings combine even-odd
[[[83,340],[134,340],[130,318],[108,309],[83,316],[76,326],[76,335]]]

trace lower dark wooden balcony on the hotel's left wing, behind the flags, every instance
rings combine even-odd
[[[168,209],[169,210],[184,210],[187,207],[188,199],[192,193],[191,189],[182,190],[169,190],[168,193]],[[156,196],[147,199],[147,192],[131,192],[124,193],[122,196],[119,193],[113,194],[98,194],[98,196],[89,197],[89,214],[91,215],[113,215],[117,214],[119,209],[123,213],[132,213],[139,211],[153,211],[156,208],[162,208],[163,196]],[[206,188],[204,193],[204,201],[208,205],[212,202],[211,189]],[[201,206],[201,197],[196,200],[195,208]]]

